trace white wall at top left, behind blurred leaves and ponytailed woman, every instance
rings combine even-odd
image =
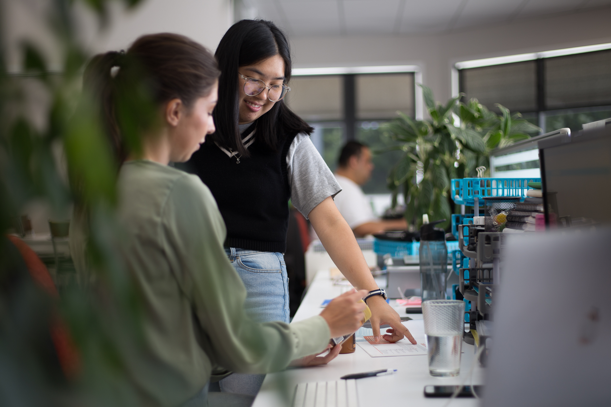
[[[233,0],[144,0],[133,10],[119,1],[109,5],[109,24],[100,27],[84,1],[75,4],[79,40],[91,54],[126,49],[140,35],[155,32],[183,34],[214,51],[233,23]],[[0,7],[9,71],[21,68],[24,40],[38,46],[51,69],[60,70],[62,52],[47,23],[53,0],[2,0]]]

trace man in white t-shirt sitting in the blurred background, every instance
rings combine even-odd
[[[403,218],[382,220],[373,209],[360,185],[371,178],[373,163],[371,151],[359,142],[348,142],[342,148],[335,179],[342,192],[335,195],[335,205],[357,237],[387,230],[405,230],[408,224]]]

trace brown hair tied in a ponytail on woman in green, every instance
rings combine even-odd
[[[186,107],[207,96],[220,71],[196,41],[178,34],[138,38],[127,52],[98,54],[87,65],[83,87],[100,106],[104,130],[122,164],[139,145],[156,108],[178,98]]]

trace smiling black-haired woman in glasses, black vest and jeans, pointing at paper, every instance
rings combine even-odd
[[[242,20],[225,33],[215,54],[221,69],[216,132],[192,156],[189,170],[216,199],[227,225],[225,251],[247,289],[247,314],[258,322],[288,322],[288,278],[282,253],[291,200],[343,275],[371,294],[374,336],[407,336],[400,318],[371,276],[354,234],[333,202],[340,185],[309,139],[313,128],[285,104],[290,91],[288,40],[271,21]],[[221,390],[256,394],[263,375],[232,375]]]

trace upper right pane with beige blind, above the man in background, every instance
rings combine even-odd
[[[397,110],[414,117],[413,73],[357,75],[355,87],[358,120],[390,119]]]

